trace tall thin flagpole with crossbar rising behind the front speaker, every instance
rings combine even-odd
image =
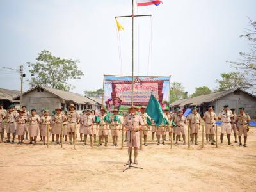
[[[116,18],[122,18],[122,17],[131,17],[132,18],[132,98],[131,98],[131,104],[133,105],[133,79],[134,79],[134,53],[133,53],[133,47],[134,47],[134,38],[133,38],[133,31],[134,31],[134,17],[151,17],[152,15],[134,15],[134,0],[132,0],[132,15],[125,15],[125,16],[116,16]]]

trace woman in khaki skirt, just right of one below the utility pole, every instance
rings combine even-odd
[[[39,122],[40,117],[39,115],[36,115],[36,109],[31,109],[31,116],[29,116],[29,137],[30,142],[29,144],[32,144],[32,141],[34,141],[34,144],[36,144],[36,138],[38,136],[38,129],[39,129]]]

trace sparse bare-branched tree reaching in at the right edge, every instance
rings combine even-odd
[[[246,81],[251,86],[244,86],[244,89],[249,89],[255,92],[256,90],[256,21],[252,21],[250,18],[250,29],[246,29],[244,35],[240,35],[241,38],[246,38],[248,41],[248,52],[239,52],[241,59],[239,61],[227,61],[231,64],[231,67],[236,68],[240,72],[244,73]]]

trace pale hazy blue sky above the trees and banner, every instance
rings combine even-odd
[[[150,19],[135,19],[135,75],[172,75],[171,81],[182,83],[189,93],[196,86],[216,88],[215,79],[234,70],[225,61],[237,61],[240,51],[248,51],[239,35],[249,28],[247,17],[256,20],[256,1],[163,3],[135,8],[136,13],[153,15],[152,57]],[[1,0],[0,66],[34,62],[38,52],[47,49],[56,56],[80,60],[85,76],[70,81],[76,86],[72,92],[102,88],[103,74],[131,74],[131,20],[118,20],[125,28],[120,32],[120,65],[114,19],[129,14],[130,0]],[[25,70],[29,77],[26,65]],[[0,74],[1,88],[19,90],[19,74],[1,70]],[[28,83],[24,88],[28,90]]]

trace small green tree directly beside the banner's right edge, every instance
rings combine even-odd
[[[171,83],[170,88],[170,103],[175,100],[186,99],[188,98],[188,92],[184,91],[184,87],[179,82]]]

